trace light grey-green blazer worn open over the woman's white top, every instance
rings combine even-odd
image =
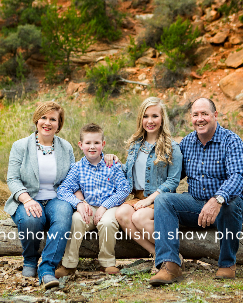
[[[54,136],[56,156],[56,179],[53,188],[56,189],[65,179],[70,164],[75,162],[71,144]],[[48,157],[48,155],[46,155]],[[13,143],[9,155],[7,184],[12,195],[8,198],[4,211],[13,215],[19,205],[19,195],[28,192],[34,198],[39,191],[39,168],[36,150],[36,132],[29,137]]]

